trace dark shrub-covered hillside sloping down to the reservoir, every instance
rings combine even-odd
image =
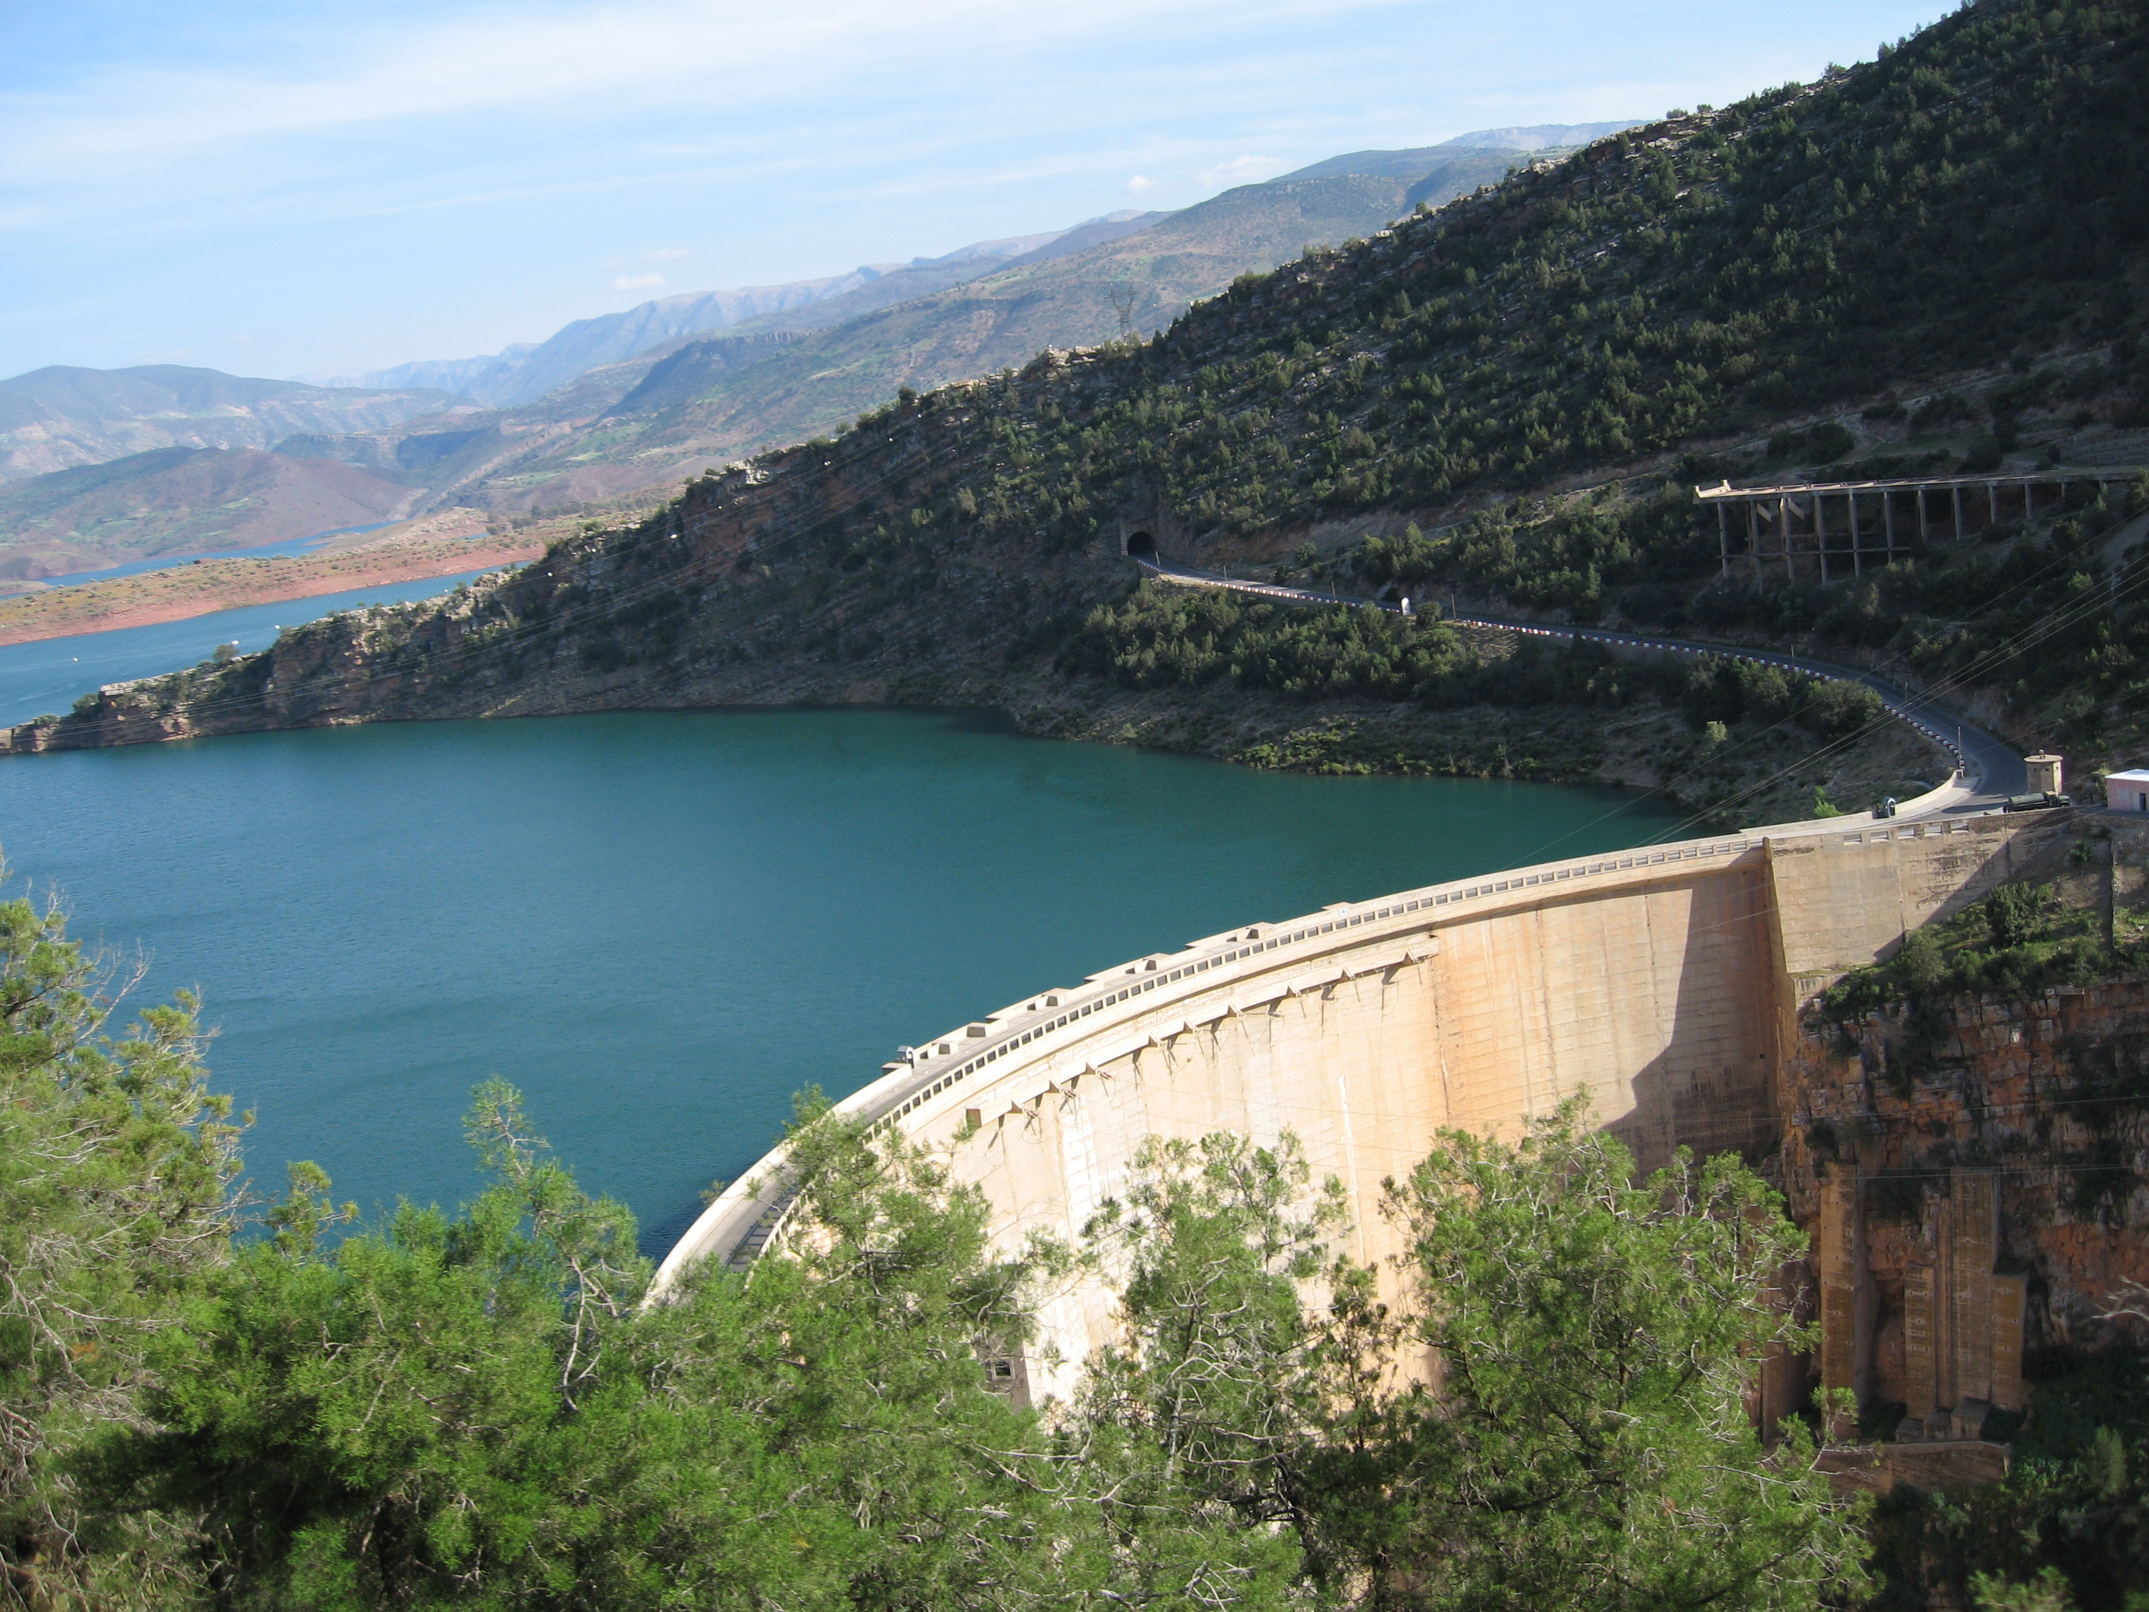
[[[1148,529],[1203,563],[1281,561],[1367,587],[1408,576],[1549,613],[1631,604],[1782,632],[1794,621],[1782,613],[1809,610],[1799,630],[1818,632],[1822,606],[1848,608],[1885,645],[1900,630],[1885,613],[1915,606],[1932,643],[1968,634],[1962,666],[2001,696],[1986,673],[2005,666],[2009,613],[2048,610],[2050,589],[2067,600],[2069,645],[2112,645],[2044,656],[2054,699],[2125,686],[2136,595],[2100,585],[2115,501],[2016,533],[2020,559],[1964,546],[1966,559],[1859,587],[1698,593],[1715,531],[1691,479],[1784,475],[1846,454],[1842,436],[1926,464],[1990,462],[2052,432],[2078,451],[2125,441],[2149,361],[2145,71],[2140,2],[1960,11],[1822,84],[1633,129],[1242,275],[1148,342],[903,395],[503,587],[329,621],[256,664],[86,701],[17,744],[127,742],[174,716],[217,731],[331,711],[905,699],[1255,761],[1304,757],[1296,733],[1341,722],[1358,735],[1352,765],[1509,772],[1558,757],[1537,776],[1672,785],[1734,817],[1782,812],[1814,787],[1902,793],[1930,759],[1801,772],[1814,739],[1797,724],[1691,701],[1657,707],[1665,722],[1640,739],[1560,701],[1526,731],[1515,707],[1479,705],[1442,733],[1405,733],[1399,714],[1425,714],[1425,690],[1451,705],[1463,683],[1292,688],[1246,677],[1244,660],[1203,662],[1163,630],[1145,645],[1154,664],[1208,671],[1126,690],[1102,675],[1126,645],[1081,649],[1083,623],[1128,582],[1122,533]],[[2001,619],[1958,615],[1979,598]],[[1713,757],[1764,761],[1693,785]]]

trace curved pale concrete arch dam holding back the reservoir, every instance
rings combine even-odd
[[[926,1042],[838,1105],[941,1152],[993,1234],[1074,1238],[1150,1135],[1294,1131],[1352,1197],[1352,1253],[1444,1126],[1513,1135],[1573,1092],[1644,1167],[1769,1152],[1799,1010],[2059,836],[2065,812],[1846,819],[1463,879],[1246,924],[1042,991]],[[722,1193],[658,1272],[782,1236],[782,1150]],[[1019,1393],[1066,1395],[1115,1335],[1100,1287],[1047,1302]],[[1051,1354],[1059,1365],[1042,1365]]]

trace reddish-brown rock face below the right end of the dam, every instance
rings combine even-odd
[[[1904,1073],[1906,1012],[1801,1025],[1777,1092],[1792,1214],[1816,1232],[1820,1378],[1977,1438],[2022,1358],[2097,1348],[2149,1283],[2149,980],[1956,997]],[[1928,1030],[1930,1036],[1930,1030]]]

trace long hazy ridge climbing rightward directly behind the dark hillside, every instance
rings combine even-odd
[[[1541,142],[1592,131],[1599,125],[1504,133]],[[898,387],[993,374],[1042,348],[1111,342],[1122,329],[1160,329],[1242,273],[1287,262],[1309,243],[1373,234],[1418,202],[1438,206],[1498,183],[1528,157],[1524,146],[1485,144],[1483,133],[1362,150],[1178,213],[1113,213],[903,267],[660,299],[494,355],[484,363],[514,359],[496,385],[468,383],[527,395],[563,374],[533,402],[385,430],[294,432],[275,447],[417,488],[428,507],[524,512],[617,499],[825,432]],[[754,297],[771,305],[752,312]],[[370,378],[421,374],[453,383],[462,372],[402,365]]]

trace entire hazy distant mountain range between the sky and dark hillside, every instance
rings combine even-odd
[[[37,370],[0,380],[0,481],[34,477],[0,490],[0,576],[269,544],[449,505],[520,516],[658,492],[838,428],[898,387],[1148,335],[1238,275],[1373,234],[1622,127],[1360,150],[1176,213],[1113,213],[909,264],[666,297],[486,357],[342,376],[365,385],[176,365]]]

